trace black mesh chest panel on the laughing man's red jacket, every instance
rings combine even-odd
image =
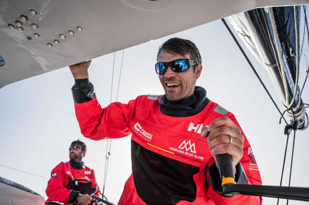
[[[196,199],[193,175],[199,167],[147,150],[131,140],[132,173],[139,197],[148,205],[175,205]]]

